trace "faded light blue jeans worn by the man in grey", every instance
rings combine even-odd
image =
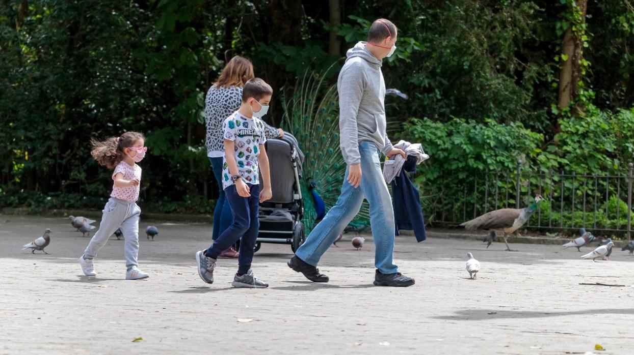
[[[349,166],[346,168],[344,184],[337,204],[328,211],[313,229],[295,255],[306,263],[317,266],[324,252],[361,209],[363,199],[370,203],[370,224],[375,244],[374,265],[381,273],[398,272],[392,261],[394,252],[394,210],[392,199],[383,178],[380,151],[372,142],[359,144],[361,155],[361,184],[354,189],[347,182]]]

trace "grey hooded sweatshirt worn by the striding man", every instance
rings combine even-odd
[[[348,165],[361,163],[359,143],[373,142],[383,154],[392,144],[385,132],[385,82],[382,61],[358,42],[346,53],[339,72],[339,147]]]

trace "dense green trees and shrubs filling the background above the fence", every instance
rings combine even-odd
[[[579,20],[566,17],[575,15],[571,4],[340,1],[342,21],[330,25],[327,1],[4,1],[0,204],[101,207],[112,182],[89,158],[89,139],[139,130],[150,148],[141,198],[165,211],[208,211],[216,186],[201,112],[224,63],[251,58],[276,90],[266,119],[288,124],[280,93],[290,103],[306,70],[332,66],[319,78],[327,91],[346,50],[379,17],[399,28],[398,49],[382,67],[386,85],[410,96],[386,99],[386,113],[403,138],[429,143],[426,178],[512,170],[522,156],[540,171],[622,171],[633,152],[634,7],[588,2],[590,21],[579,34],[587,37],[583,82],[593,94],[585,116],[560,118],[550,109],[553,58],[562,31]],[[330,31],[340,40],[337,55],[328,54]],[[552,129],[557,120],[561,132]]]

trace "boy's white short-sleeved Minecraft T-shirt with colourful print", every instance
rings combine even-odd
[[[257,157],[260,145],[266,142],[264,122],[259,118],[247,118],[235,111],[223,122],[224,139],[233,140],[234,157],[238,172],[247,184],[259,184]],[[226,156],[223,157],[223,189],[233,185]]]

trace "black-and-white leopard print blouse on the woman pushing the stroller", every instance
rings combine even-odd
[[[207,156],[224,155],[223,121],[240,108],[242,87],[216,87],[212,85],[205,98],[205,125],[207,126]],[[277,128],[264,123],[266,139],[280,136]]]

